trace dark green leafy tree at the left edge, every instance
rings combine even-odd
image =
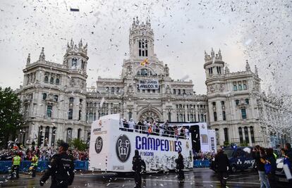
[[[14,141],[22,124],[20,99],[10,87],[0,87],[0,147],[7,148],[9,139]]]

